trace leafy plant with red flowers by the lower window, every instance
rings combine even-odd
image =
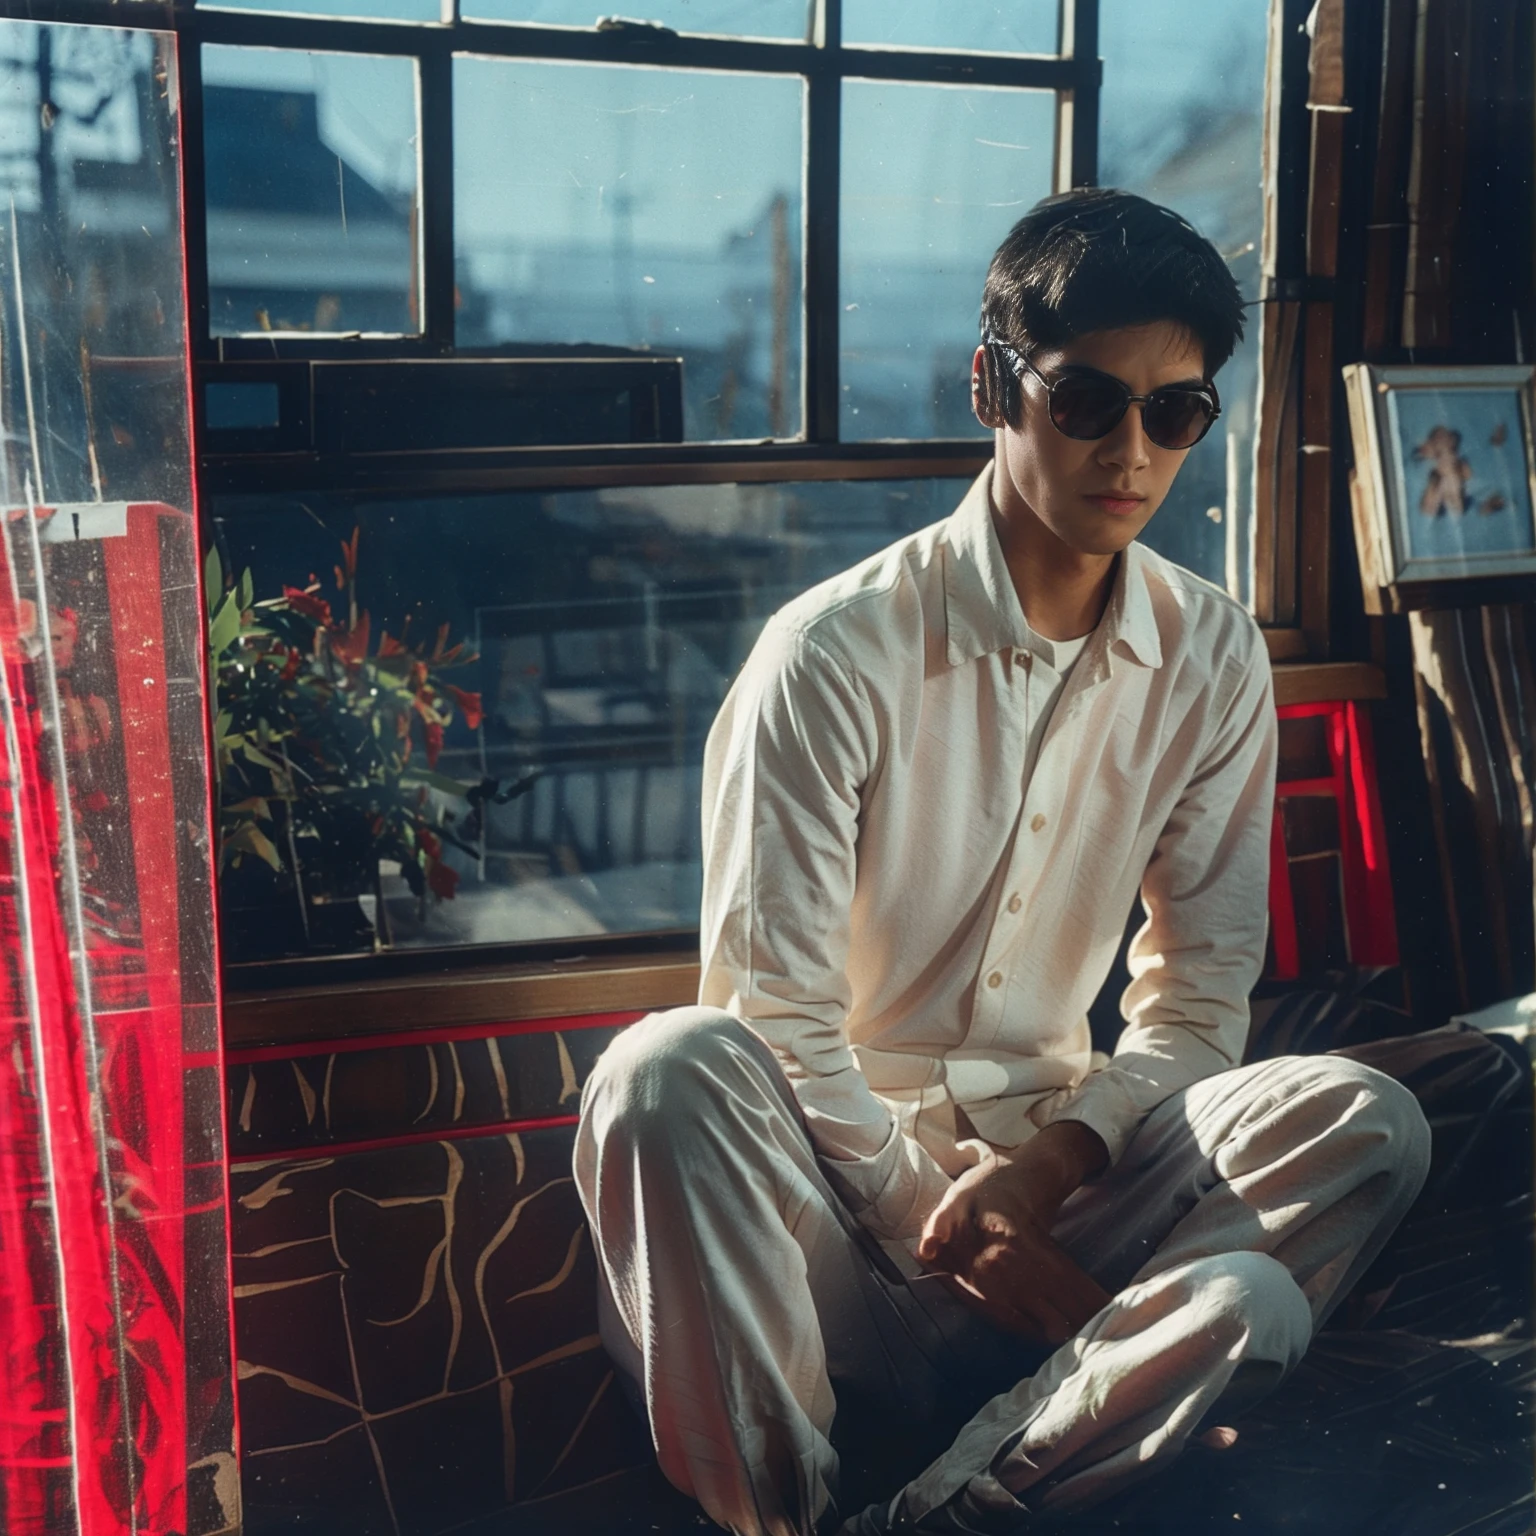
[[[449,644],[447,625],[430,650],[373,634],[358,536],[335,567],[339,611],[313,578],[257,601],[247,570],[226,590],[218,550],[207,554],[220,876],[226,897],[241,886],[226,900],[230,958],[387,945],[381,860],[422,903],[450,900],[459,876],[445,848],[478,856],[482,802],[510,797],[438,771],[455,716],[481,723],[479,694],[449,680],[478,657]],[[376,928],[359,895],[375,897]],[[250,931],[273,897],[273,928]]]

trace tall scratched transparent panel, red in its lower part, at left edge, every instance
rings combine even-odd
[[[170,32],[0,20],[0,1530],[240,1525]]]

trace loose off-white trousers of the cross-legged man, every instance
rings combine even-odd
[[[604,1052],[574,1169],[604,1344],[716,1522],[809,1536],[856,1513],[846,1430],[912,1447],[868,1498],[905,1481],[914,1518],[962,1499],[1006,1528],[1144,1476],[1218,1399],[1213,1422],[1278,1382],[1418,1193],[1428,1127],[1341,1057],[1175,1094],[1061,1210],[1054,1236],[1114,1299],[1049,1356],[859,1227],[773,1054],[717,1009],[651,1014]]]

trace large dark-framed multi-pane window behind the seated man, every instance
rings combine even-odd
[[[763,619],[989,458],[1014,220],[1124,184],[1258,296],[1263,8],[1200,6],[177,8],[226,957],[687,945]],[[1253,358],[1149,533],[1243,596]]]

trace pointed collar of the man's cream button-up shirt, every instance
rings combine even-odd
[[[1054,665],[1051,642],[1029,627],[1003,561],[1003,545],[992,522],[991,464],[951,513],[945,539],[949,544],[945,561],[949,665],[960,667],[1005,650],[1034,651]],[[1124,653],[1143,667],[1163,665],[1163,642],[1147,591],[1147,551],[1140,544],[1129,544],[1115,568],[1098,630],[1103,645],[1091,645],[1091,651],[1106,659]]]

